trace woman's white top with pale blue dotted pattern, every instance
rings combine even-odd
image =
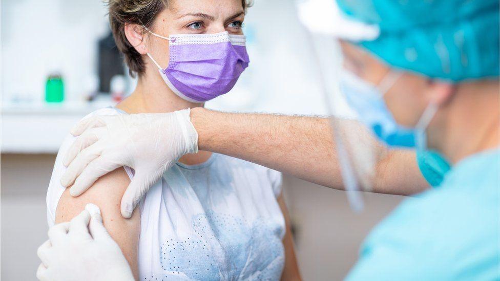
[[[121,114],[103,109],[92,114]],[[92,115],[91,114],[91,115]],[[65,188],[57,155],[47,193],[49,226]],[[132,179],[134,172],[126,167]],[[213,154],[199,165],[177,163],[140,203],[140,280],[278,280],[284,266],[281,174]]]

